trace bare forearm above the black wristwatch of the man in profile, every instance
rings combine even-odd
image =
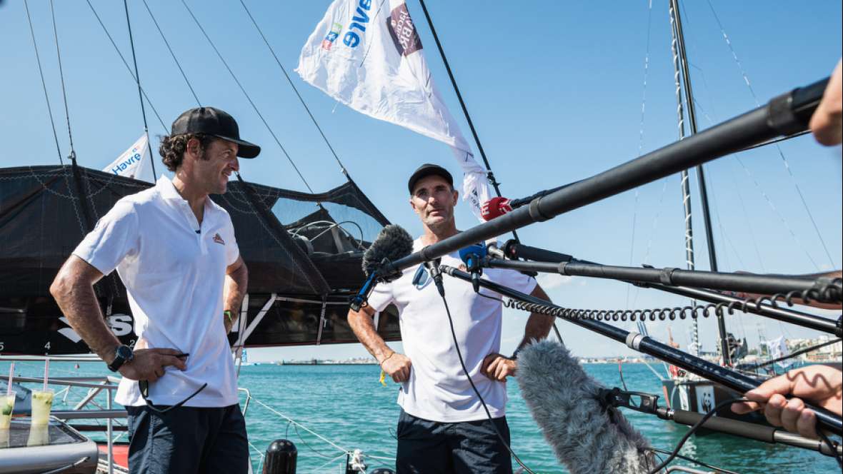
[[[51,291],[73,330],[101,359],[110,363],[121,343],[105,324],[94,287],[83,281],[56,280]]]

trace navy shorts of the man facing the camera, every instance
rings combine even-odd
[[[509,445],[507,418],[494,418],[492,421]],[[488,419],[438,423],[416,418],[401,410],[396,435],[397,474],[513,472],[509,450],[501,443]]]

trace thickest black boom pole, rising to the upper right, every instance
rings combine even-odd
[[[758,109],[537,198],[527,206],[422,248],[392,264],[395,269],[406,269],[533,222],[547,221],[746,146],[805,130],[827,83],[828,78],[825,78],[805,88],[795,89]]]

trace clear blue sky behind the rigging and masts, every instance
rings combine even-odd
[[[122,3],[91,3],[131,64]],[[336,162],[239,3],[187,3],[310,186],[320,191],[341,184],[344,178]],[[148,4],[201,102],[227,110],[239,121],[241,135],[263,146],[259,159],[241,162],[244,178],[304,190],[182,4],[161,0],[148,0]],[[329,2],[253,0],[246,4],[284,67],[293,73],[301,46]],[[67,156],[67,123],[49,5],[46,0],[30,0],[62,155]],[[666,0],[654,0],[652,9],[646,1],[432,0],[427,6],[504,194],[521,197],[585,178],[636,157],[639,150],[651,151],[678,138]],[[196,106],[196,101],[143,3],[131,0],[129,8],[142,85],[169,125],[180,112]],[[463,125],[464,135],[470,137],[421,8],[412,0],[408,8],[416,19],[433,77]],[[724,40],[712,9],[733,49]],[[840,59],[840,2],[711,0],[687,2],[683,13],[701,128],[753,108],[754,97],[763,104],[827,76]],[[102,168],[142,133],[137,87],[87,3],[56,2],[56,22],[74,148],[81,164]],[[58,162],[56,146],[23,2],[0,5],[0,45],[0,166],[54,164]],[[447,146],[346,109],[294,73],[293,81],[357,184],[391,221],[411,233],[421,232],[407,204],[405,180],[422,162],[438,162],[459,175]],[[149,105],[147,115],[154,147],[164,128]],[[824,148],[806,136],[781,144],[781,153],[792,177],[775,147],[706,165],[721,269],[800,273],[840,268],[840,147]],[[697,264],[707,269],[695,175],[691,191]],[[457,217],[461,228],[475,224],[464,205]],[[526,243],[607,264],[684,267],[679,177],[529,226],[519,234]],[[824,239],[828,255],[818,236]],[[541,282],[563,306],[644,308],[686,303],[610,281],[544,276]],[[526,315],[507,311],[504,320],[503,350],[508,352],[523,334]],[[620,344],[570,323],[558,325],[577,354],[628,353]],[[759,328],[768,338],[816,335],[754,316],[729,317],[728,326],[750,341],[758,338]],[[663,323],[652,325],[650,331],[666,338]],[[673,333],[686,347],[687,324],[674,323]],[[713,349],[715,336],[714,322],[702,322],[705,349]],[[358,344],[252,352],[257,359],[364,354]]]

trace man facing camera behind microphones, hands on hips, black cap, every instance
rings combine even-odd
[[[414,251],[459,232],[454,221],[458,193],[454,178],[445,168],[422,165],[411,175],[407,187],[410,205],[424,227],[424,235],[413,244]],[[461,266],[459,253],[443,256],[442,264]],[[482,278],[547,299],[533,278],[513,270],[484,269]],[[515,375],[518,362],[498,354],[500,296],[487,290],[481,291],[489,297],[479,296],[470,283],[447,277],[443,285],[454,335],[471,381],[464,374],[442,298],[425,266],[405,269],[398,280],[376,286],[368,306],[348,314],[357,338],[378,359],[384,372],[402,384],[395,465],[399,474],[511,473],[504,382]],[[390,303],[398,307],[405,354],[389,349],[373,326],[374,313]],[[545,338],[552,323],[552,317],[531,315],[518,347]],[[486,403],[491,422],[471,382]]]

